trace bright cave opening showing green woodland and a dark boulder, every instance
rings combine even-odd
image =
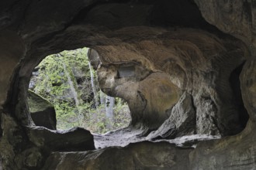
[[[126,128],[130,110],[124,100],[99,89],[88,49],[47,56],[33,70],[28,103],[37,126],[67,130],[81,127],[96,134]]]

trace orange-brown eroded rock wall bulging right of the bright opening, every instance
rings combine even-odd
[[[220,38],[201,30],[148,30],[152,35],[156,31],[157,40],[95,46],[98,62],[90,58],[98,64],[102,90],[125,99],[132,124],[140,122],[146,129],[160,127],[184,90],[192,95],[197,134],[241,131],[229,79],[244,62],[245,46],[228,36]],[[133,76],[118,76],[123,64],[135,67]]]

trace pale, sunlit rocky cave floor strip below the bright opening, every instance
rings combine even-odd
[[[122,128],[116,131],[109,131],[106,134],[93,134],[95,148],[107,148],[107,147],[126,147],[131,143],[137,143],[140,141],[166,141],[170,144],[175,144],[178,147],[182,148],[196,148],[196,144],[199,141],[208,141],[213,139],[219,139],[218,135],[208,135],[208,134],[192,134],[185,135],[182,137],[174,139],[150,139],[147,136],[142,136],[144,131],[136,128]]]

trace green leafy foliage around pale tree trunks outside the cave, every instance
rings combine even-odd
[[[34,86],[30,89],[54,104],[59,129],[80,126],[95,133],[105,133],[124,128],[130,122],[130,110],[123,100],[116,99],[113,122],[106,119],[105,104],[95,108],[87,50],[76,49],[47,56],[36,67],[38,75],[32,76],[30,83]],[[97,90],[99,92],[99,87]],[[106,128],[107,124],[112,124],[112,129]]]

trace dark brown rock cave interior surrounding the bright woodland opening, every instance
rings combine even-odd
[[[3,0],[0,9],[0,169],[256,167],[254,2]],[[100,89],[130,108],[129,127],[105,137],[36,126],[29,113],[34,68],[84,46]]]

